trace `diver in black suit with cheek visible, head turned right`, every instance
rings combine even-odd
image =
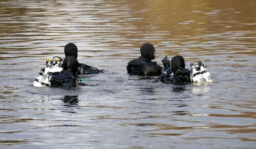
[[[139,75],[139,76],[159,76],[165,69],[170,67],[169,60],[167,57],[162,60],[164,63],[164,68],[157,65],[156,62],[152,62],[152,59],[155,59],[156,50],[153,45],[150,43],[144,43],[140,47],[141,56],[131,60],[126,69],[127,73],[130,75]]]

